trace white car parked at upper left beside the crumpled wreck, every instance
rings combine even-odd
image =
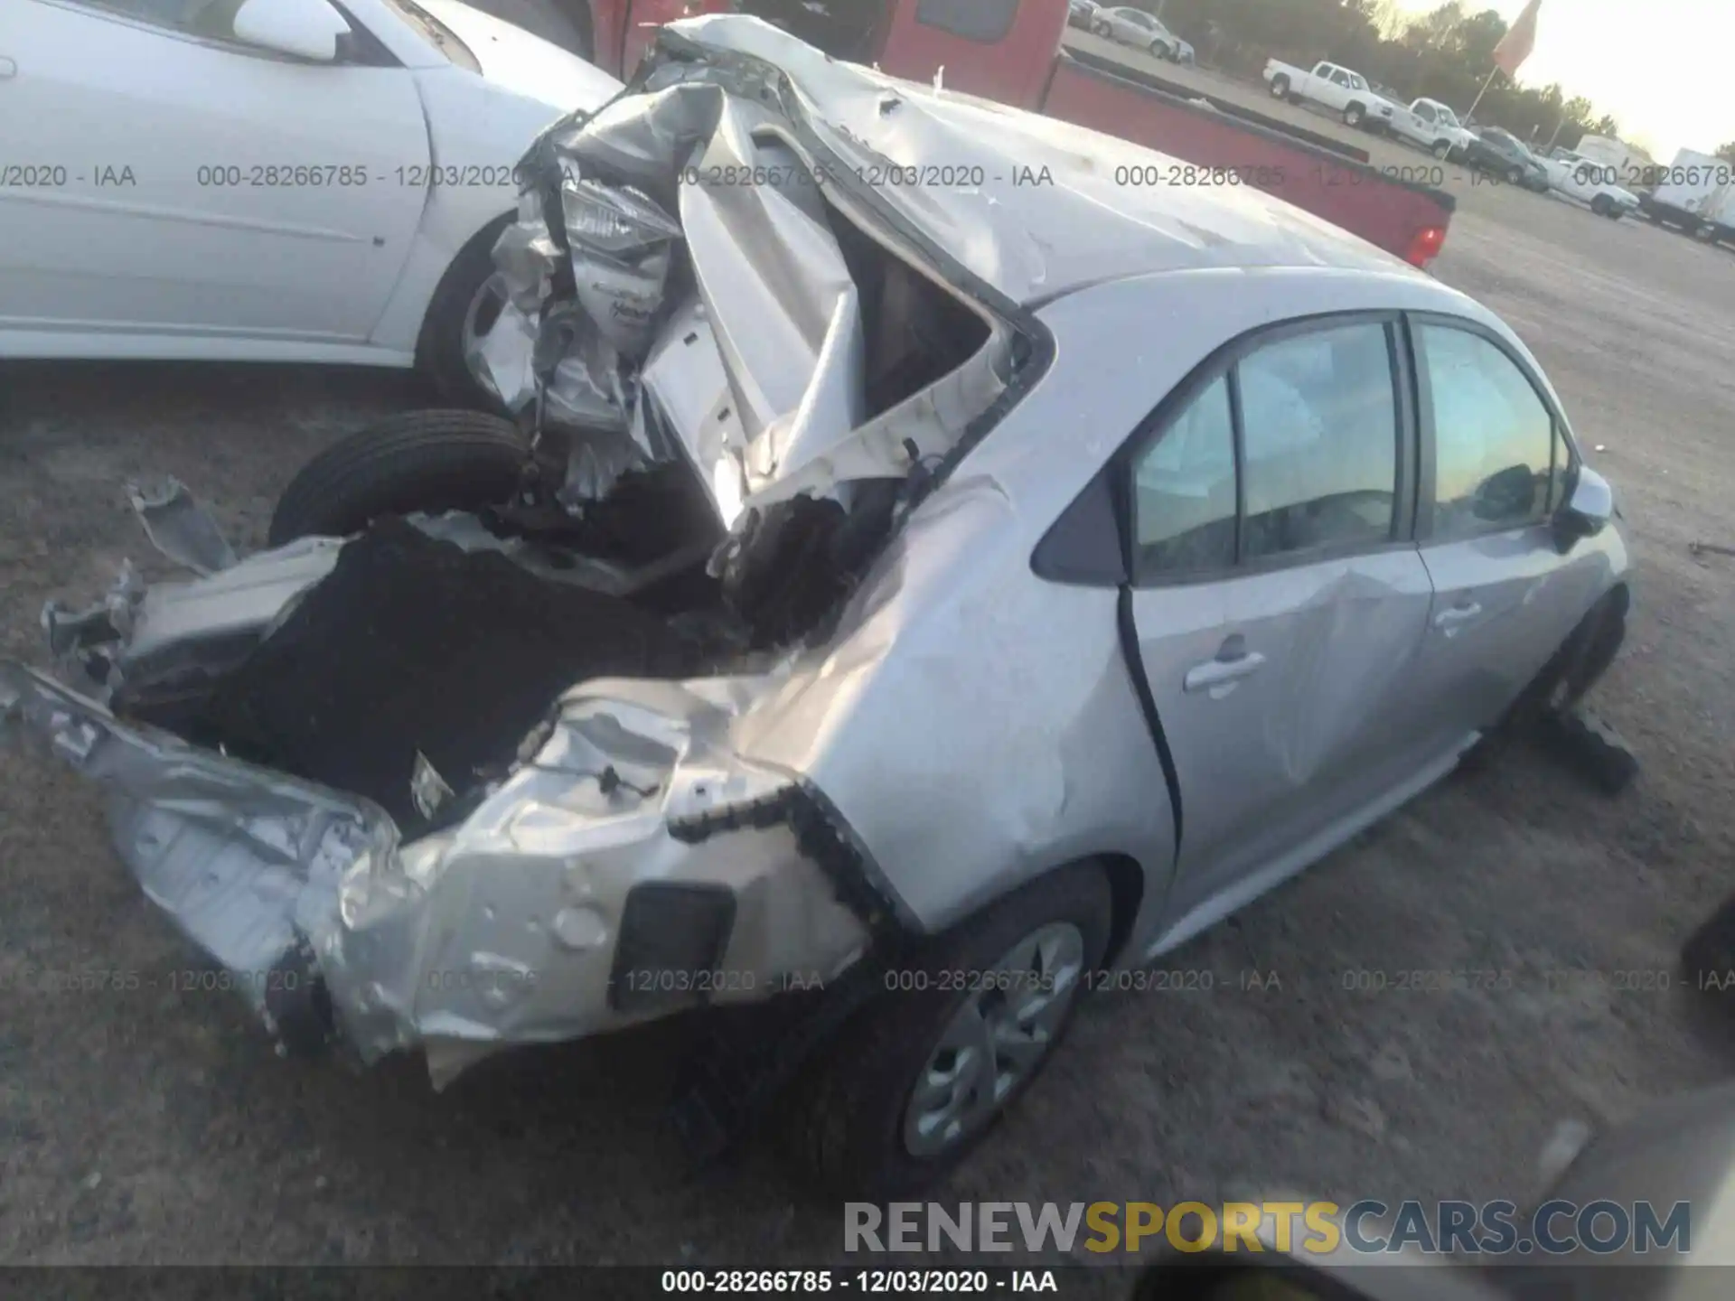
[[[0,357],[474,392],[536,134],[619,83],[456,0],[0,3]]]

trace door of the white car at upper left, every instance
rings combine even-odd
[[[0,331],[47,356],[373,333],[422,220],[415,80],[248,47],[232,9],[0,3],[3,161],[40,163],[0,186]]]

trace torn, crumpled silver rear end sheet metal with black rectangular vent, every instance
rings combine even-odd
[[[788,789],[720,744],[748,683],[611,685],[569,694],[468,819],[409,843],[364,800],[14,663],[0,737],[23,727],[106,788],[120,857],[279,1043],[422,1048],[444,1084],[508,1044],[812,989],[868,947],[789,826],[668,831]]]

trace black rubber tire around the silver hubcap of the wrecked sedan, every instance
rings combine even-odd
[[[1088,973],[1103,961],[1110,923],[1107,874],[1097,864],[1074,864],[1020,886],[937,937],[913,961],[888,971],[888,977],[909,975],[914,987],[881,992],[809,1065],[805,1077],[796,1081],[782,1126],[788,1155],[821,1190],[841,1199],[904,1197],[944,1178],[1053,1060],[1053,1049],[1077,1011]],[[1067,949],[1064,970],[1058,964],[1055,968],[1069,982],[1070,992],[1058,1010],[1050,999],[1048,1010],[1057,1018],[1041,1039],[1041,1055],[1010,1084],[996,1075],[992,1088],[1006,1088],[1006,1093],[991,1105],[984,1103],[954,1133],[949,1133],[949,1124],[935,1122],[937,1129],[925,1134],[925,1115],[933,1117],[958,1105],[959,1086],[954,1084],[949,1103],[925,1115],[914,1110],[923,1079],[947,1070],[935,1063],[949,1060],[951,1070],[959,1072],[961,1084],[973,1077],[963,1074],[965,1049],[949,1049],[946,1039],[956,1036],[959,1020],[973,1023],[972,1008],[980,1010],[992,999],[1005,1006],[1008,997],[1017,997],[1017,992],[1008,996],[994,989],[984,992],[954,989],[951,984],[942,987],[940,977],[954,971],[1010,971],[998,964],[1013,959],[1032,937],[1041,935],[1070,937],[1065,944],[1074,945]],[[1060,942],[1055,938],[1057,945]],[[994,1015],[982,1013],[980,1020],[994,1025]],[[1005,1043],[991,1030],[984,1030],[984,1036],[989,1043]],[[992,1056],[996,1070],[1001,1062],[999,1055]],[[965,1110],[970,1110],[972,1098],[979,1100],[980,1089],[968,1091]],[[935,1147],[928,1148],[928,1143]]]

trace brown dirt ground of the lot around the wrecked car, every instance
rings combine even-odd
[[[1558,1121],[1726,1072],[1678,982],[1614,985],[1669,973],[1735,888],[1735,560],[1688,553],[1735,543],[1735,257],[1456,189],[1440,278],[1523,333],[1620,491],[1638,609],[1600,704],[1641,782],[1605,801],[1527,753],[1454,777],[1182,952],[1173,966],[1211,971],[1211,992],[1088,1006],[947,1197],[1522,1200]],[[305,456],[415,397],[406,378],[342,371],[0,369],[0,652],[40,657],[47,597],[95,593],[121,557],[147,557],[125,479],[175,474],[259,545]],[[836,1211],[796,1202],[769,1159],[703,1178],[673,1160],[656,1124],[668,1032],[515,1056],[446,1095],[409,1062],[347,1075],[274,1060],[232,996],[170,990],[191,956],[109,852],[97,800],[16,755],[0,756],[0,1259],[840,1252]],[[1513,987],[1345,989],[1463,968]],[[40,973],[75,970],[135,989],[40,992]],[[1241,992],[1246,970],[1280,989]]]

